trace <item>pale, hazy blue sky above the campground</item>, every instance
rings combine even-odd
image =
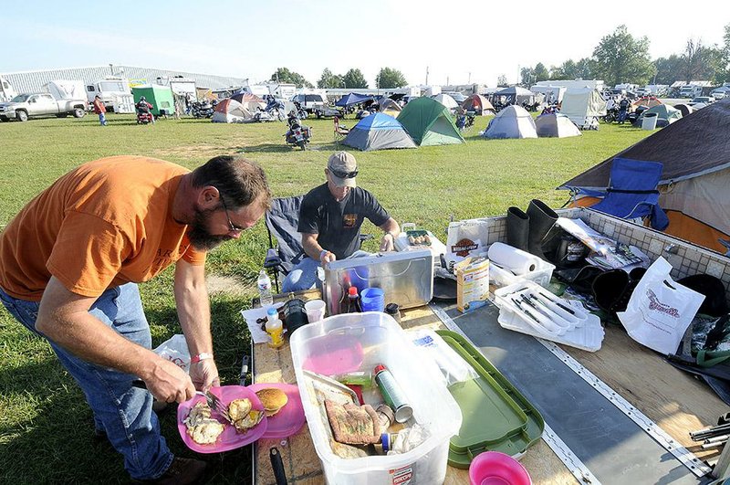
[[[425,81],[428,67],[432,84],[495,86],[500,74],[515,81],[520,67],[589,57],[621,23],[649,37],[652,57],[681,53],[689,38],[721,43],[730,23],[730,8],[714,0],[697,4],[695,14],[670,3],[652,12],[655,3],[593,4],[4,0],[0,72],[112,63],[258,81],[287,67],[316,83],[324,68],[359,68],[374,85],[381,67],[400,69],[412,84]]]

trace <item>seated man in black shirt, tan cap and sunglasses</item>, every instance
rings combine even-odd
[[[360,226],[365,217],[385,231],[381,251],[393,249],[393,240],[401,232],[398,223],[370,192],[355,184],[357,174],[354,156],[334,153],[325,169],[327,183],[304,196],[297,230],[302,234],[302,247],[308,258],[302,259],[284,279],[285,293],[314,288],[317,268],[324,263],[368,256],[360,250]]]

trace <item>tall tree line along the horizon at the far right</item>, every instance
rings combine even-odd
[[[538,62],[520,69],[522,84],[541,80],[603,79],[609,86],[631,84],[672,84],[674,81],[709,80],[714,84],[730,81],[730,24],[726,25],[722,45],[706,46],[702,39],[687,40],[684,51],[668,58],[649,55],[649,39],[631,36],[620,25],[600,39],[590,58],[568,59],[559,66]]]

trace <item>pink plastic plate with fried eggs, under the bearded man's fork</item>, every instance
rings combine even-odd
[[[211,393],[218,396],[223,401],[224,406],[234,399],[248,398],[251,400],[251,407],[258,409],[259,411],[264,410],[264,406],[261,405],[261,401],[255,395],[255,392],[244,387],[243,385],[224,385],[221,387],[211,387]],[[180,431],[180,436],[183,438],[183,442],[188,448],[198,453],[220,453],[221,451],[228,451],[230,449],[241,448],[249,443],[253,443],[256,439],[261,438],[266,433],[266,427],[268,426],[266,417],[261,420],[259,424],[252,427],[245,433],[239,433],[235,430],[235,427],[225,421],[222,416],[216,416],[214,411],[213,416],[218,419],[221,423],[224,423],[225,429],[218,437],[218,440],[212,445],[199,445],[193,441],[187,433],[187,427],[183,420],[190,414],[190,410],[198,402],[204,401],[205,398],[202,395],[195,395],[193,399],[185,401],[183,404],[177,407],[177,428]]]

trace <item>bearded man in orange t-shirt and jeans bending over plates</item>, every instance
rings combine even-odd
[[[167,448],[152,396],[180,403],[219,384],[205,253],[252,227],[270,198],[264,171],[240,157],[190,172],[117,156],[62,176],[0,234],[0,300],[50,343],[134,480],[179,485],[203,475],[203,461]],[[151,351],[137,289],[172,264],[190,374]],[[132,385],[137,378],[149,392]]]

